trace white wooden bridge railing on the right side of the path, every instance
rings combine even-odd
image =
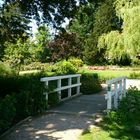
[[[117,109],[119,101],[126,96],[126,77],[108,80],[106,84],[107,94],[105,99],[107,100],[107,110]]]

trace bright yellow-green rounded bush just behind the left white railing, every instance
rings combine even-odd
[[[64,60],[54,65],[53,71],[56,75],[75,74],[78,69],[70,62]]]

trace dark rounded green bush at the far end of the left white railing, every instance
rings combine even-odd
[[[102,90],[97,74],[84,73],[81,77],[81,92],[83,94],[93,94]]]

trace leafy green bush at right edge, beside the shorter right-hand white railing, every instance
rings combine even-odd
[[[128,90],[126,98],[120,102],[118,117],[120,121],[140,123],[140,91],[136,87]]]

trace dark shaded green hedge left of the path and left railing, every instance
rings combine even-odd
[[[0,77],[0,133],[19,120],[47,109],[44,84],[40,82],[42,76]]]

